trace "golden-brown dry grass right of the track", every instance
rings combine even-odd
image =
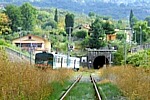
[[[150,69],[119,66],[101,69],[101,76],[117,85],[129,100],[150,100]]]

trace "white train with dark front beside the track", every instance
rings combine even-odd
[[[80,58],[68,57],[64,54],[40,52],[35,54],[35,66],[42,69],[71,68],[78,71],[80,68]]]

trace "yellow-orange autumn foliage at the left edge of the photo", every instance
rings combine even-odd
[[[0,13],[0,35],[7,35],[11,32],[9,27],[10,19],[5,13]]]

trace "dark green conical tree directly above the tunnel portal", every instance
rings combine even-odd
[[[90,27],[89,35],[90,35],[88,41],[89,48],[99,49],[100,47],[105,46],[105,42],[104,42],[105,34],[102,27],[102,21],[96,19],[94,23],[92,23]]]

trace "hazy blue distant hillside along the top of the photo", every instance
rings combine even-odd
[[[57,7],[85,14],[95,12],[114,19],[127,19],[131,9],[138,19],[150,16],[150,0],[0,0],[4,1],[17,5],[31,2],[36,7]]]

